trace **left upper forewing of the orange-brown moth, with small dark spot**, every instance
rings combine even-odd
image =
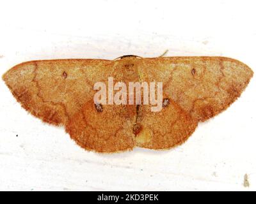
[[[30,61],[14,66],[3,80],[21,105],[50,124],[63,125],[93,97],[93,81],[99,80],[109,61]]]

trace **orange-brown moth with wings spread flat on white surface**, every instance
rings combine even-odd
[[[134,147],[170,149],[184,143],[204,122],[233,103],[253,71],[227,57],[125,55],[105,59],[23,62],[3,75],[29,113],[64,126],[86,150],[120,152]],[[95,104],[97,82],[163,82],[163,109],[150,105]]]

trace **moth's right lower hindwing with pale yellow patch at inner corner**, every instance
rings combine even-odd
[[[180,145],[195,131],[197,121],[179,105],[168,101],[160,112],[151,112],[150,105],[141,106],[137,122],[140,127],[136,145],[148,149],[169,149]]]

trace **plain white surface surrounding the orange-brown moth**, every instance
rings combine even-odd
[[[256,72],[255,1],[1,1],[0,74],[36,59],[221,55]],[[0,190],[256,190],[255,77],[172,150],[87,152],[0,82]],[[18,135],[18,136],[16,136]],[[244,187],[244,174],[250,187]]]

